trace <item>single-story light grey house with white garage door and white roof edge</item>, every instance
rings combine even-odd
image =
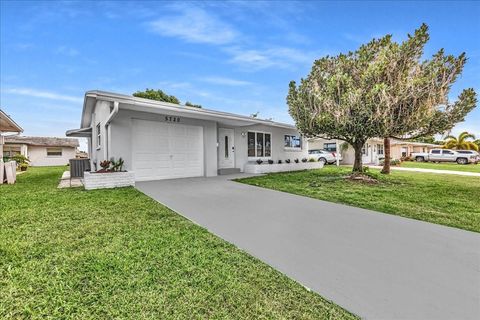
[[[136,180],[243,172],[248,162],[308,157],[295,126],[128,95],[88,91],[80,129],[92,168],[123,158]]]

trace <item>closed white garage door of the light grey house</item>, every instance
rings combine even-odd
[[[203,128],[133,120],[133,170],[137,181],[203,176]]]

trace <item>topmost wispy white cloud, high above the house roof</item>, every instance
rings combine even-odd
[[[188,42],[209,44],[231,43],[237,37],[237,32],[231,26],[200,8],[181,10],[178,15],[150,22],[151,31]]]

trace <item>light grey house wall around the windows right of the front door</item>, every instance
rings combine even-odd
[[[221,126],[221,128],[228,128]],[[294,129],[286,129],[279,127],[270,127],[265,125],[253,125],[246,127],[236,127],[235,130],[235,168],[244,172],[245,165],[248,162],[254,162],[257,158],[248,157],[248,131],[261,131],[271,134],[272,139],[272,156],[269,159],[277,162],[278,160],[285,161],[286,159],[294,160],[296,158],[302,159],[308,157],[308,143],[305,139],[302,139],[302,147],[300,150],[288,150],[284,148],[284,135],[298,135],[298,131]],[[242,136],[242,132],[245,135]]]

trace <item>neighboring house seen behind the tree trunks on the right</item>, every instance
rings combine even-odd
[[[343,143],[344,142],[341,140],[338,141],[338,145],[340,146],[341,154],[343,157],[342,164],[353,164],[355,159],[355,152],[350,145],[348,146],[348,149],[342,150],[341,145]],[[414,152],[428,152],[431,149],[438,147],[438,145],[431,143],[391,139],[391,158],[401,159],[405,157],[410,157],[410,155]],[[327,140],[320,138],[310,139],[308,140],[308,149],[325,149],[328,151],[336,152],[336,140]],[[362,149],[362,162],[364,164],[378,164],[380,160],[384,158],[385,150],[383,147],[383,139],[368,139]]]

